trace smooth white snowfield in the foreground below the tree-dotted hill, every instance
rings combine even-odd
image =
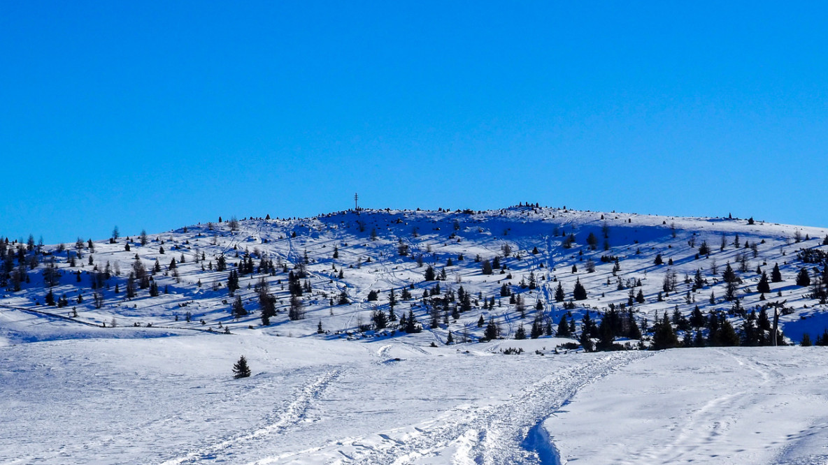
[[[825,348],[556,355],[549,341],[251,330],[10,345],[0,463],[828,461]],[[511,347],[525,352],[499,353]],[[253,376],[233,380],[241,354]]]

